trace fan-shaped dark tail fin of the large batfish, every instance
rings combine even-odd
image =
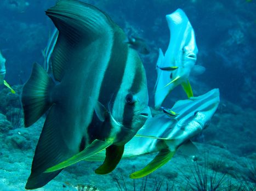
[[[41,65],[34,63],[30,79],[21,94],[25,127],[35,123],[50,108],[50,92],[54,86],[53,80]]]

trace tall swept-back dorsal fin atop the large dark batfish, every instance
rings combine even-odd
[[[67,69],[74,67],[70,63],[81,63],[82,57],[86,56],[84,47],[98,37],[112,34],[114,23],[110,17],[87,3],[59,1],[46,14],[59,30],[52,54],[53,75],[57,81],[61,81]]]

